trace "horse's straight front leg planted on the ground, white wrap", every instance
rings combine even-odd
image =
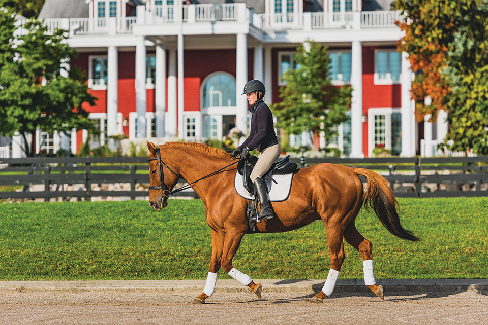
[[[215,291],[215,284],[217,283],[217,272],[221,266],[222,251],[224,250],[225,233],[211,230],[212,235],[212,257],[210,259],[210,269],[208,270],[207,281],[203,292],[193,299],[194,304],[203,304],[205,299],[211,297]]]

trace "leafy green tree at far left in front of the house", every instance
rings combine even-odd
[[[13,16],[11,10],[0,11],[0,135],[19,132],[25,153],[33,156],[35,148],[29,146],[26,134],[34,139],[36,129],[96,132],[82,107],[94,105],[96,99],[88,93],[86,77],[75,67],[62,77],[62,62],[76,55],[65,31],[48,35],[37,20],[17,29]]]

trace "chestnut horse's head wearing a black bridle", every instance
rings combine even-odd
[[[147,142],[149,150],[149,205],[161,210],[168,205],[171,190],[178,183],[179,176],[164,161],[160,147]]]

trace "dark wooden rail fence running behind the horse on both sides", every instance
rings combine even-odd
[[[488,196],[488,157],[473,158],[294,158],[301,167],[334,163],[366,168],[383,175],[398,197]],[[0,199],[94,197],[145,198],[149,173],[145,157],[0,159]],[[362,176],[361,176],[362,177]],[[365,182],[365,179],[362,179]],[[107,184],[125,188],[108,190]],[[177,186],[182,186],[181,181]],[[37,190],[33,190],[36,188]],[[178,196],[198,197],[193,191]]]

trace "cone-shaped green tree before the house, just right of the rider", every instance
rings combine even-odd
[[[316,42],[300,44],[295,62],[297,68],[284,75],[286,85],[279,91],[282,101],[271,106],[277,127],[288,134],[324,132],[325,138],[331,138],[337,134],[332,127],[348,119],[352,88],[332,85],[327,48]]]

